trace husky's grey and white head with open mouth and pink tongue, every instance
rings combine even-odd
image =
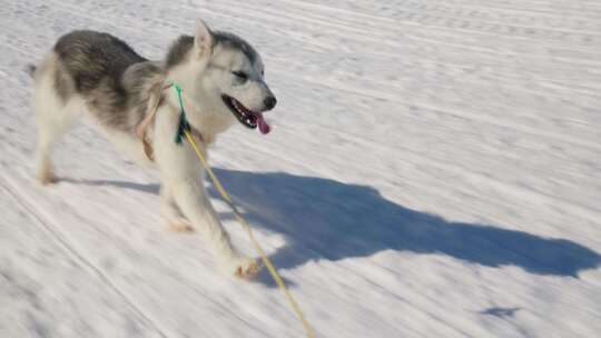
[[[231,33],[213,32],[198,20],[195,36],[181,37],[167,56],[167,67],[177,66],[183,66],[179,78],[194,83],[200,109],[269,132],[263,112],[277,101],[265,82],[260,56],[248,42]]]

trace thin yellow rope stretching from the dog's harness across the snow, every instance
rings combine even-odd
[[[263,264],[265,264],[265,266],[269,270],[269,274],[274,278],[275,282],[279,287],[282,292],[284,292],[284,295],[286,296],[288,301],[290,302],[290,306],[292,306],[293,310],[296,312],[296,315],[298,316],[298,319],[300,319],[300,321],[303,322],[303,326],[305,327],[305,331],[307,332],[307,337],[308,338],[315,338],[315,331],[313,330],[313,328],[309,326],[309,324],[305,319],[305,315],[300,310],[300,307],[298,306],[298,304],[296,302],[296,300],[292,296],[290,291],[286,287],[286,284],[284,282],[284,280],[282,279],[279,274],[277,274],[277,270],[274,267],[274,265],[272,264],[272,261],[269,260],[269,258],[267,258],[267,255],[265,255],[265,251],[263,250],[263,248],[260,247],[258,241],[255,239],[255,235],[253,233],[253,230],[250,229],[250,226],[248,225],[246,219],[240,215],[240,212],[238,212],[238,209],[234,205],[234,201],[231,200],[231,198],[229,197],[227,191],[224,189],[224,186],[221,186],[221,183],[219,182],[219,180],[215,176],[215,172],[213,172],[213,169],[210,169],[205,156],[203,155],[203,151],[200,151],[200,148],[198,147],[198,143],[196,142],[196,140],[194,139],[194,137],[191,136],[189,130],[185,130],[185,133],[186,133],[186,139],[188,139],[188,142],[190,143],[190,146],[196,151],[196,155],[198,156],[198,159],[203,163],[203,167],[205,167],[205,169],[209,173],[210,179],[215,183],[215,187],[217,188],[217,190],[219,191],[219,193],[221,195],[224,200],[229,205],[229,207],[231,208],[231,211],[234,211],[234,215],[236,216],[236,219],[240,222],[243,228],[248,233],[248,237],[250,238],[250,241],[253,242],[253,245],[257,249],[258,254],[260,255],[260,259],[263,260]]]

